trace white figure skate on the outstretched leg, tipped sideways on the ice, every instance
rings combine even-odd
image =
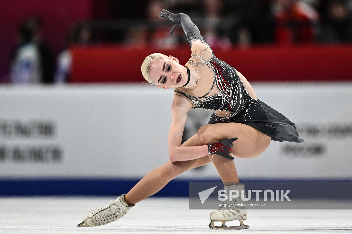
[[[100,226],[120,219],[134,206],[134,204],[127,204],[125,195],[122,194],[116,200],[111,200],[107,206],[90,210],[84,215],[83,222],[78,224],[77,227]]]

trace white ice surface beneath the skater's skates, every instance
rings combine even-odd
[[[87,211],[105,206],[111,199],[116,197],[2,197],[0,233],[352,232],[352,210],[249,210],[244,222],[249,229],[210,230],[208,215],[212,210],[189,210],[187,198],[149,198],[114,223],[76,228]]]

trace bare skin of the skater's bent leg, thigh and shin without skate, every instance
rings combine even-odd
[[[237,137],[233,142],[231,155],[240,158],[251,158],[262,154],[268,148],[271,138],[249,125],[240,123],[207,124],[197,132],[201,145],[214,143],[223,139]],[[219,155],[209,155],[222,182],[239,183],[233,160]]]

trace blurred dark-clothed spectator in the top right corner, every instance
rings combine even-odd
[[[327,17],[321,24],[318,41],[352,41],[352,15],[346,1],[331,1],[327,8]]]

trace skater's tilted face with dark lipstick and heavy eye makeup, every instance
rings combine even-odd
[[[157,59],[150,69],[150,79],[158,87],[163,89],[180,87],[187,83],[187,68],[180,65],[177,58],[169,56],[169,59]]]

